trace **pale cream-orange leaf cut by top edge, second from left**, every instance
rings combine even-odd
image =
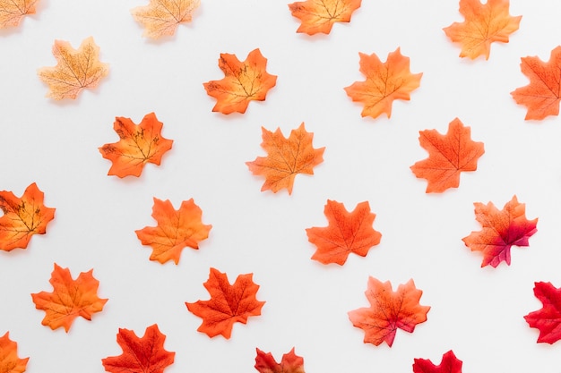
[[[160,38],[175,34],[177,25],[190,22],[201,0],[150,0],[150,4],[131,10],[134,20],[142,23],[148,38]]]

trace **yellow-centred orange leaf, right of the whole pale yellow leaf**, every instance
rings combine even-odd
[[[246,113],[250,101],[264,101],[269,89],[277,84],[277,76],[265,71],[267,59],[259,48],[249,52],[244,62],[236,55],[221,53],[218,66],[224,79],[203,83],[206,93],[216,98],[213,112]]]

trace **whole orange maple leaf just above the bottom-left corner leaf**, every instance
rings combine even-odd
[[[68,268],[59,267],[55,263],[49,280],[53,285],[53,292],[31,294],[35,308],[46,313],[41,324],[53,330],[64,326],[68,333],[75,318],[82,316],[91,321],[91,315],[101,311],[108,301],[98,297],[99,281],[92,273],[93,269],[90,269],[73,280]]]

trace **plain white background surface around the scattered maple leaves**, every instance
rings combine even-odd
[[[140,0],[41,0],[38,13],[0,32],[0,190],[21,196],[31,182],[45,192],[56,217],[27,250],[0,252],[0,334],[10,332],[28,371],[93,373],[121,353],[119,327],[143,335],[157,323],[176,352],[167,373],[251,372],[255,347],[277,360],[294,346],[306,372],[410,372],[414,358],[438,363],[453,350],[469,372],[553,373],[561,344],[536,343],[523,319],[539,309],[536,281],[561,286],[560,119],[524,121],[510,92],[527,84],[520,58],[548,60],[561,42],[557,0],[514,0],[520,30],[493,44],[488,61],[462,59],[442,28],[462,21],[457,1],[364,0],[350,23],[330,35],[297,34],[298,20],[279,0],[203,0],[194,20],[173,38],[142,38],[130,9]],[[110,72],[76,100],[45,97],[37,69],[56,64],[55,39],[78,47],[92,36]],[[266,101],[246,114],[212,113],[203,82],[220,80],[220,53],[244,60],[256,47],[278,75]],[[382,61],[401,47],[410,70],[423,72],[409,102],[393,104],[390,119],[362,118],[344,87],[363,81],[358,52]],[[155,112],[174,140],[160,167],[140,178],[108,176],[98,148],[118,140],[116,116],[135,123]],[[410,165],[427,157],[419,131],[444,133],[458,117],[485,144],[478,170],[460,188],[425,193]],[[306,123],[316,148],[325,147],[315,175],[298,175],[292,195],[261,192],[263,179],[246,161],[264,156],[261,127],[289,131]],[[530,247],[512,250],[512,265],[481,268],[462,238],[479,230],[473,202],[498,208],[516,194],[526,216],[539,217]],[[178,208],[194,198],[211,224],[200,250],[186,248],[179,265],[150,261],[134,230],[155,225],[152,198]],[[324,226],[327,199],[348,209],[368,200],[382,241],[366,258],[343,267],[311,260],[305,229]],[[68,334],[40,324],[31,292],[52,290],[53,264],[73,276],[93,268],[99,296],[108,298],[92,321],[76,319]],[[231,339],[196,331],[201,319],[185,302],[207,300],[209,268],[254,273],[266,301],[260,317],[234,326]],[[393,347],[363,343],[347,312],[367,307],[368,276],[394,288],[413,278],[431,306],[413,334],[398,331]]]

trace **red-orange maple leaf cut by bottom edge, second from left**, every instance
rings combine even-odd
[[[162,373],[176,356],[176,352],[164,349],[165,341],[166,335],[161,334],[157,324],[148,326],[142,338],[132,330],[119,328],[117,343],[123,353],[101,359],[101,363],[111,373]]]

